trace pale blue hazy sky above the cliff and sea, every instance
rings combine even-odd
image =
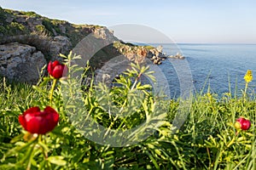
[[[147,26],[179,43],[256,43],[255,0],[0,0],[0,6],[73,24]]]

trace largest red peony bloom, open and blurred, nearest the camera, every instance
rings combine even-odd
[[[30,133],[45,134],[52,131],[59,121],[59,114],[47,106],[44,111],[32,107],[19,116],[19,122]]]

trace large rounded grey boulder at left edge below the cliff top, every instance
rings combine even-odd
[[[38,82],[46,65],[44,54],[35,47],[18,42],[0,45],[0,74],[18,82]]]

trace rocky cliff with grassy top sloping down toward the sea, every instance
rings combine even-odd
[[[82,54],[93,55],[89,56],[92,68],[101,68],[109,59],[121,54],[138,63],[143,63],[146,57],[158,58],[154,63],[160,64],[161,55],[155,48],[121,42],[106,27],[73,25],[64,20],[50,20],[33,12],[0,8],[0,75],[19,82],[33,83],[39,77],[35,72],[40,71],[49,60],[61,59],[59,54],[68,54],[88,36],[93,37],[95,42],[90,42],[86,53]],[[102,48],[97,49],[95,43],[98,41],[103,42]],[[95,49],[96,52],[91,53]],[[37,63],[37,59],[32,59],[34,53],[44,54],[44,59],[40,55]],[[26,56],[26,59],[22,56]],[[26,70],[27,65],[32,65],[28,62],[32,61],[35,66]],[[26,76],[15,74],[19,71]]]

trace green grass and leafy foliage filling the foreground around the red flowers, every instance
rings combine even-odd
[[[76,71],[70,60],[71,56],[66,59],[67,65]],[[76,94],[76,82],[68,77],[54,88],[49,77],[37,86],[1,79],[0,169],[256,169],[256,105],[249,81],[239,97],[210,91],[194,94],[186,121],[174,133],[172,121],[183,101],[154,96],[149,85],[139,82],[142,74],[150,77],[150,72],[146,67],[133,68],[116,80],[119,86],[87,83],[80,88],[81,95]],[[54,89],[52,94],[50,89]],[[64,95],[69,98],[64,99]],[[70,99],[79,97],[83,106],[70,103]],[[110,114],[106,110],[109,102],[119,113],[127,113],[125,108],[129,108],[130,115]],[[138,103],[141,105],[135,105]],[[46,105],[59,113],[59,124],[45,135],[26,133],[18,116],[32,106]],[[163,107],[167,108],[165,112],[160,109]],[[104,135],[86,124],[86,115],[108,129]],[[234,127],[241,116],[252,123],[248,130]],[[110,130],[125,132],[132,128],[137,128],[137,134],[127,139],[126,145],[108,140]],[[98,139],[90,138],[94,134]],[[143,134],[148,136],[143,138]],[[119,139],[118,135],[110,137]],[[107,142],[102,144],[105,137]]]

